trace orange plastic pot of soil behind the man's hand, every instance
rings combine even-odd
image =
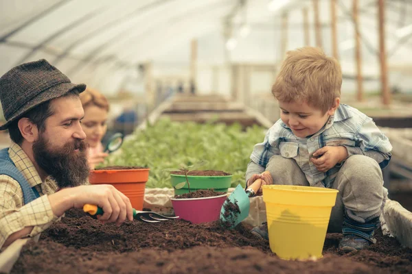
[[[119,169],[90,171],[90,184],[111,184],[122,192],[136,210],[143,209],[144,188],[150,169]]]

